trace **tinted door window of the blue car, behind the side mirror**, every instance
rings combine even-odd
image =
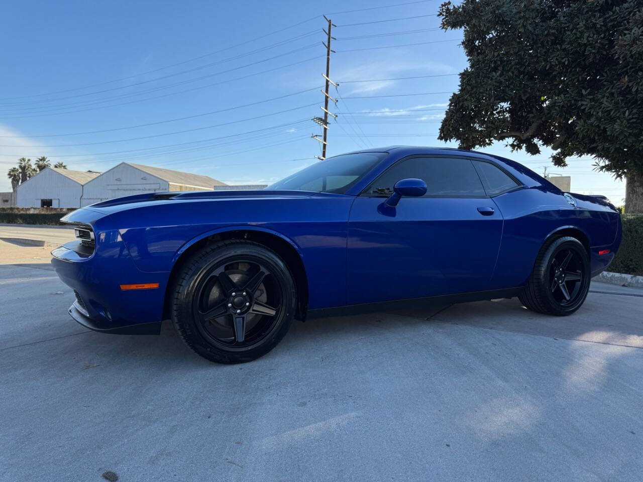
[[[480,177],[469,159],[413,157],[393,166],[370,186],[368,192],[390,195],[400,179],[416,177],[426,183],[427,196],[484,196]]]

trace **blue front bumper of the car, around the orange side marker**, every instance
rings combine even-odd
[[[69,315],[91,330],[113,334],[159,334],[168,272],[141,272],[118,231],[101,236],[92,254],[72,241],[51,251],[51,264],[74,290]],[[158,283],[156,289],[122,290],[121,284]]]

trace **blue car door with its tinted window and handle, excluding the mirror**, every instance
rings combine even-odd
[[[422,197],[384,204],[400,179],[426,182]],[[515,187],[515,183],[514,183]],[[503,219],[466,157],[401,159],[353,202],[349,216],[350,305],[487,289]]]

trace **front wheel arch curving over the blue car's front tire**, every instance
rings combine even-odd
[[[305,319],[308,310],[308,278],[303,264],[303,255],[296,244],[281,233],[257,226],[239,226],[208,231],[198,237],[186,242],[177,251],[172,260],[172,271],[165,289],[163,302],[163,319],[170,316],[170,290],[174,285],[174,278],[181,270],[181,266],[190,258],[192,253],[208,245],[224,240],[248,240],[266,246],[275,251],[293,274],[294,284],[297,291],[297,310],[295,317]]]

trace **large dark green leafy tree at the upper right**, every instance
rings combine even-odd
[[[439,16],[469,58],[440,139],[593,156],[643,212],[643,0],[462,0]]]

